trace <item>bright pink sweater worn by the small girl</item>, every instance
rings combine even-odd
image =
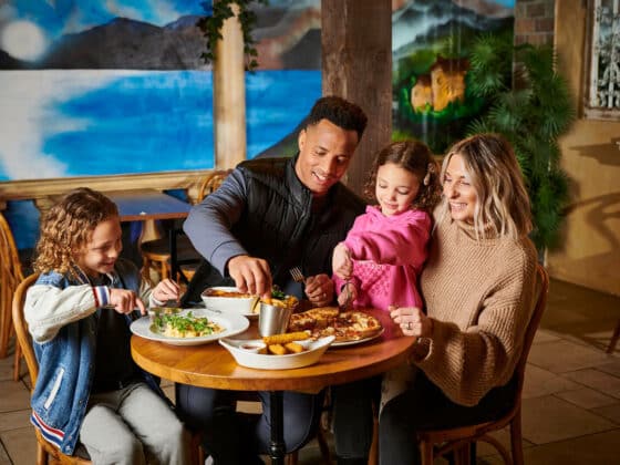
[[[356,308],[416,306],[422,308],[417,276],[427,256],[431,216],[406,210],[385,216],[376,206],[368,206],[347,235],[344,244],[353,259],[352,282],[358,288]],[[337,291],[344,281],[333,277]]]

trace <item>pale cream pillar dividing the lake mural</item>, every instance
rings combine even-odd
[[[216,0],[217,1],[217,0]],[[235,17],[224,22],[213,68],[215,167],[232,168],[246,159],[244,35]]]

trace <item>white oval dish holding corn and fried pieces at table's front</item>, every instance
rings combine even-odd
[[[308,350],[300,353],[288,353],[286,355],[267,355],[241,349],[244,344],[260,342],[261,340],[220,339],[219,343],[224,345],[232,354],[237,363],[242,366],[259,370],[290,370],[317,363],[333,340],[333,335],[321,338],[310,342],[308,344]]]

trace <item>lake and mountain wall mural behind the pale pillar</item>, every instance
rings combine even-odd
[[[0,2],[0,182],[213,167],[200,3]],[[265,63],[246,76],[250,157],[321,94],[319,6],[258,7]]]

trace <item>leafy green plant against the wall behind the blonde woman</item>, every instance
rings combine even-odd
[[[489,105],[469,124],[468,134],[503,134],[515,153],[531,202],[539,250],[559,244],[559,230],[568,204],[569,179],[561,169],[558,137],[575,121],[567,81],[556,72],[556,55],[548,45],[513,48],[512,37],[480,35],[469,56],[472,92]],[[512,50],[517,71],[510,85]]]

